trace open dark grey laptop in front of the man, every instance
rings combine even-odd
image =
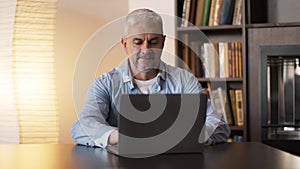
[[[122,95],[119,142],[107,150],[126,157],[201,153],[206,106],[206,94]]]

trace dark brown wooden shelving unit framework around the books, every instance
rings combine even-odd
[[[182,16],[184,2],[186,0],[177,0],[177,16]],[[191,0],[192,2],[193,0]],[[203,0],[197,0],[202,2]],[[204,0],[206,1],[206,0]],[[210,0],[213,1],[213,0]],[[218,1],[218,0],[216,0]],[[225,0],[223,0],[225,1]],[[265,109],[268,107],[267,97],[262,96],[264,89],[262,89],[263,79],[261,72],[262,56],[261,51],[266,47],[270,47],[269,53],[273,55],[273,49],[278,49],[279,54],[283,57],[290,56],[291,51],[286,50],[290,47],[300,46],[300,9],[296,6],[297,0],[243,0],[242,15],[240,24],[228,25],[181,25],[177,24],[176,33],[178,36],[187,34],[189,41],[198,41],[199,45],[204,43],[219,43],[219,42],[241,42],[242,44],[242,76],[241,77],[205,77],[205,74],[198,76],[199,83],[203,87],[208,87],[210,84],[216,86],[224,86],[227,90],[241,89],[243,91],[243,125],[230,125],[232,130],[231,138],[235,140],[236,136],[242,136],[243,141],[261,141],[271,146],[280,148],[282,150],[299,154],[297,147],[300,145],[299,126],[293,124],[297,133],[297,139],[289,139],[285,136],[281,140],[269,138],[265,140],[265,128],[268,131],[273,131],[274,128],[286,127],[285,125],[268,124],[269,121],[264,121],[266,116]],[[195,2],[193,2],[195,3]],[[197,11],[197,9],[193,9]],[[203,16],[202,16],[203,17]],[[197,18],[197,15],[196,15]],[[203,18],[202,18],[203,19]],[[196,23],[196,22],[195,22]],[[207,40],[195,36],[194,32],[201,30],[207,37]],[[284,48],[283,50],[281,50]],[[177,56],[184,54],[181,42],[176,43]],[[280,50],[279,50],[280,49]],[[200,49],[201,50],[201,49]],[[288,51],[290,53],[280,54]],[[201,51],[198,53],[201,56]],[[293,57],[300,57],[300,53],[294,52]],[[179,58],[179,60],[184,58]],[[182,64],[178,64],[182,66]],[[299,66],[299,65],[298,65]],[[267,81],[267,80],[265,80]],[[266,92],[265,92],[266,93]],[[268,109],[268,108],[266,108]],[[297,114],[298,116],[300,114]],[[296,118],[297,118],[296,115]],[[270,116],[270,115],[269,115]],[[299,118],[299,117],[298,117]],[[289,126],[291,127],[291,126]],[[239,140],[237,140],[239,141]]]

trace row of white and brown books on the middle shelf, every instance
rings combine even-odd
[[[204,43],[201,47],[206,78],[241,78],[242,58],[241,42]]]

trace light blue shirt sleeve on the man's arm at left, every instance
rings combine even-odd
[[[91,85],[78,120],[71,128],[72,138],[77,144],[105,147],[107,133],[116,129],[106,121],[110,112],[108,85],[109,82],[104,78],[96,79]]]

